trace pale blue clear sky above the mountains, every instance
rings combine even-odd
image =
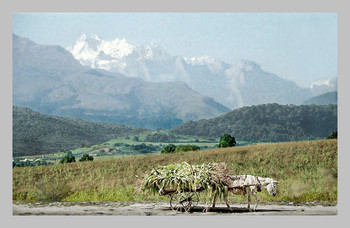
[[[248,59],[300,86],[337,76],[336,13],[15,13],[13,33],[39,44],[82,34],[155,42],[173,55]]]

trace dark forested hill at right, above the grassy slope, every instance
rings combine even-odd
[[[337,105],[263,104],[243,107],[209,120],[190,121],[172,133],[238,140],[293,141],[326,138],[337,130]]]

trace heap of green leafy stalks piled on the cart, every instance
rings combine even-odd
[[[174,163],[154,168],[146,174],[141,191],[166,195],[173,192],[206,191],[220,197],[228,191],[227,177],[231,175],[225,163],[190,165]]]

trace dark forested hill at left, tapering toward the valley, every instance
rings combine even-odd
[[[119,124],[43,115],[14,106],[13,156],[56,153],[145,131]]]

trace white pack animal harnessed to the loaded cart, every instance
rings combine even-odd
[[[253,195],[256,199],[256,205],[254,207],[254,211],[258,207],[260,202],[259,196],[257,192],[261,191],[261,188],[266,188],[268,193],[275,197],[276,196],[276,184],[278,183],[272,178],[264,178],[257,177],[252,175],[237,175],[237,176],[229,176],[229,192],[232,192],[234,195],[245,195],[248,194],[248,210],[252,211],[250,208],[251,196]],[[240,188],[236,188],[237,186],[242,186]],[[231,210],[230,205],[227,201],[227,194],[224,195],[224,201],[227,207]],[[218,195],[214,196],[212,209],[215,210],[215,202]]]

